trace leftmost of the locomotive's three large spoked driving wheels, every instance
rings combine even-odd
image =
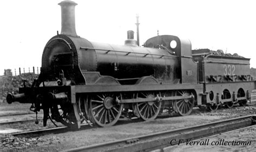
[[[123,104],[118,104],[116,98],[122,100],[121,95],[102,93],[91,96],[89,115],[92,122],[100,127],[114,125],[123,109]]]

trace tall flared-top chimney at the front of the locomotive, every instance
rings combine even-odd
[[[62,8],[62,32],[69,36],[77,37],[75,24],[75,6],[73,1],[62,1],[59,3]]]

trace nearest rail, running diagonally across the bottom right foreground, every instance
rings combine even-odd
[[[186,127],[149,135],[132,137],[113,142],[100,143],[86,147],[69,149],[66,151],[143,151],[163,149],[171,146],[172,139],[195,140],[202,137],[211,136],[219,133],[228,132],[247,126],[256,125],[256,115],[248,115],[240,118],[228,119]],[[172,144],[178,144],[178,140],[172,141]]]

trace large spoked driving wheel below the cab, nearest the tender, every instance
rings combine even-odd
[[[192,95],[188,93],[187,91],[177,91],[177,96],[188,96]],[[194,106],[194,99],[180,99],[173,102],[173,108],[174,110],[181,116],[189,115]]]

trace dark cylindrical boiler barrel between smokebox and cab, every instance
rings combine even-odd
[[[166,50],[95,42],[91,44],[93,49],[80,50],[82,56],[79,58],[83,60],[80,60],[79,65],[82,70],[99,71],[101,75],[118,79],[149,75],[164,81],[176,79],[177,57]],[[88,61],[84,60],[96,66],[88,66],[85,64]]]

